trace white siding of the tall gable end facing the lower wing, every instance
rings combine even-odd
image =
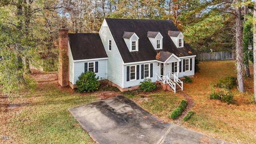
[[[102,43],[104,45],[104,48],[106,50],[106,53],[108,55],[107,78],[111,82],[114,82],[115,84],[123,88],[122,86],[123,61],[117,49],[116,43],[114,42],[114,39],[111,35],[111,32],[106,25],[107,24],[102,26],[99,34],[100,34]],[[108,51],[108,40],[112,41],[111,51]]]

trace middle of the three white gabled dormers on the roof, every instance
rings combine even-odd
[[[160,34],[160,32],[148,31],[148,39],[155,50],[163,49],[163,36]]]

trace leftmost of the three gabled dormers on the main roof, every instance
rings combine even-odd
[[[134,32],[124,32],[123,38],[130,52],[139,50],[139,37]]]

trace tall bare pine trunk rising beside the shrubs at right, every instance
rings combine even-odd
[[[235,0],[236,3],[240,0]],[[243,76],[243,53],[242,53],[242,32],[241,32],[241,7],[235,7],[236,12],[236,70],[238,80],[238,90],[244,92]]]

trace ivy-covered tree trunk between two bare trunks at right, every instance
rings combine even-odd
[[[248,14],[248,6],[244,5],[244,22],[246,21],[246,14]],[[249,69],[249,50],[248,50],[248,35],[250,34],[250,30],[247,30],[248,26],[244,24],[244,48],[243,48],[243,54],[244,54],[244,76],[250,77],[250,69]]]

